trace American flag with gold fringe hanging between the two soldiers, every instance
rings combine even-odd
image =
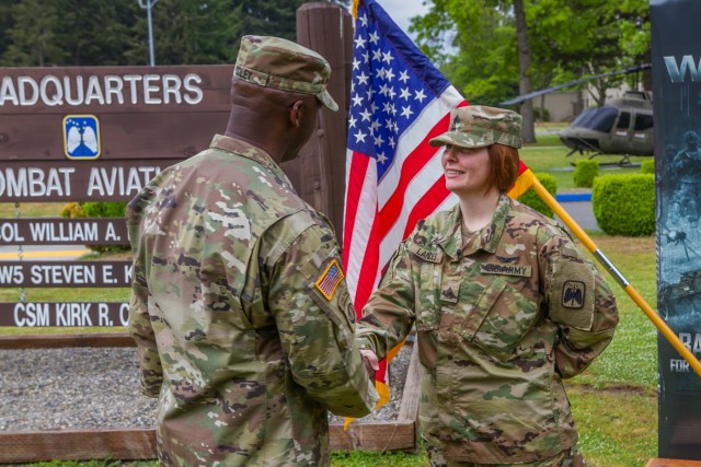
[[[375,0],[353,8],[343,268],[360,314],[416,221],[457,202],[445,187],[443,149],[428,140],[468,103]],[[389,400],[386,369],[376,375],[378,407]]]

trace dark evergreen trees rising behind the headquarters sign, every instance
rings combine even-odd
[[[156,63],[231,63],[243,34],[295,39],[306,1],[160,0],[152,9]],[[0,66],[147,65],[146,16],[138,0],[3,0]]]

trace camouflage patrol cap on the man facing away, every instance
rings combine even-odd
[[[326,91],[331,66],[315,51],[287,39],[243,36],[233,75],[263,87],[313,94],[329,109],[338,105]]]

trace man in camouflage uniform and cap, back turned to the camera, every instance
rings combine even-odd
[[[334,233],[277,165],[322,105],[337,110],[330,72],[295,43],[243,37],[225,136],[129,203],[129,329],[162,465],[329,465],[326,410],[377,400]]]

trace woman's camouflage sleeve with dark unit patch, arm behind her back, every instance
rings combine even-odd
[[[604,276],[564,236],[541,248],[549,318],[558,327],[555,366],[563,378],[582,373],[613,338],[616,297]]]

